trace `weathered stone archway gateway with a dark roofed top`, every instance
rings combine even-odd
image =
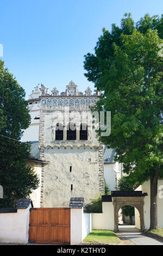
[[[142,191],[111,191],[112,204],[114,206],[114,231],[118,232],[118,211],[122,206],[131,205],[134,206],[140,214],[140,230],[145,229],[144,224],[144,198],[147,193]]]

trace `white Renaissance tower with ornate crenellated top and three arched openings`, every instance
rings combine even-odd
[[[104,194],[103,148],[90,122],[97,94],[78,92],[72,81],[66,92],[40,97],[41,207],[67,207],[71,197],[85,203]]]

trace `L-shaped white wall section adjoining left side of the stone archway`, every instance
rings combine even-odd
[[[92,229],[114,230],[114,207],[112,202],[102,203],[102,214],[92,214]]]

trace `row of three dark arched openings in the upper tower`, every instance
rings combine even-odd
[[[87,125],[80,124],[79,138],[81,141],[87,141]],[[64,126],[62,124],[57,124],[55,127],[55,140],[62,141],[64,139]],[[70,122],[66,129],[66,139],[67,141],[75,141],[77,139],[77,129],[76,124]]]

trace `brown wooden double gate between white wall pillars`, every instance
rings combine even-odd
[[[70,245],[70,208],[31,208],[29,242]]]

